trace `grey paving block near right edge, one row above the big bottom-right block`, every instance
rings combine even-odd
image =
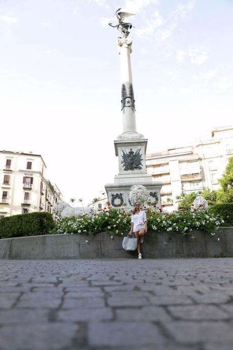
[[[169,312],[175,318],[185,320],[225,320],[229,316],[215,305],[169,306]]]

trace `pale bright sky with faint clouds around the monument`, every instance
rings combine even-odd
[[[147,152],[233,124],[232,0],[0,0],[0,149],[41,154],[66,202],[118,174],[120,7]]]

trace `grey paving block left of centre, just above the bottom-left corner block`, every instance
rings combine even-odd
[[[57,320],[63,322],[87,322],[111,320],[113,313],[109,307],[66,309],[57,313]]]

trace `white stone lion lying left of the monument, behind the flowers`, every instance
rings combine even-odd
[[[57,215],[60,219],[64,219],[65,217],[70,217],[73,216],[73,211],[74,211],[74,216],[80,216],[80,215],[93,215],[94,210],[93,208],[90,207],[74,207],[72,208],[68,203],[63,202],[63,201],[57,201],[57,203],[53,206],[53,213]]]

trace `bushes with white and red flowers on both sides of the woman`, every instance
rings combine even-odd
[[[176,231],[180,235],[187,235],[195,228],[212,232],[222,223],[221,218],[210,211],[181,210],[165,214],[158,209],[151,209],[150,207],[144,209],[148,229],[158,232]],[[123,235],[130,230],[131,214],[131,212],[126,212],[124,209],[109,208],[94,216],[84,215],[79,218],[65,218],[56,223],[54,233],[90,234],[113,232],[115,235]]]

